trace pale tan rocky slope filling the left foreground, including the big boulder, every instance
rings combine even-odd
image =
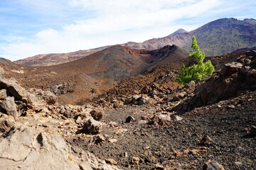
[[[29,92],[1,75],[0,169],[118,169],[65,140],[80,128],[68,113],[83,118],[81,135],[99,132],[102,124],[90,111],[61,106],[50,91]]]

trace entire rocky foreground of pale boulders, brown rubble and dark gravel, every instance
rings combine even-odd
[[[255,169],[256,51],[211,60],[198,84],[149,69],[82,106],[1,77],[0,169]]]

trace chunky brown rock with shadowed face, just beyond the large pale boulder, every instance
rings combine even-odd
[[[86,118],[82,123],[82,132],[96,135],[102,130],[102,123],[93,118]]]

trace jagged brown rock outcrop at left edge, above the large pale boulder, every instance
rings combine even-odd
[[[26,91],[15,79],[0,79],[0,111],[14,118],[33,111],[46,111],[46,106],[58,103],[58,98],[50,91],[30,89]]]

